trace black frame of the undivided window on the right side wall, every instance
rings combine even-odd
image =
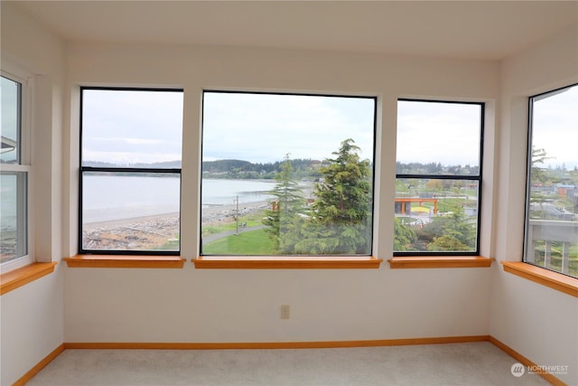
[[[524,207],[524,238],[523,238],[523,246],[522,246],[523,247],[522,263],[528,264],[531,267],[542,268],[542,269],[545,269],[547,271],[554,272],[555,274],[563,275],[562,278],[567,277],[567,278],[572,278],[572,279],[578,279],[577,277],[574,277],[567,272],[564,273],[562,271],[555,270],[554,268],[551,268],[551,267],[545,267],[545,266],[538,265],[535,262],[527,261],[527,254],[529,253],[530,244],[531,244],[531,242],[528,242],[527,239],[530,235],[530,231],[528,230],[528,228],[529,228],[529,222],[530,222],[530,193],[531,193],[531,184],[532,184],[531,174],[532,174],[532,147],[533,147],[533,142],[534,142],[533,141],[533,139],[534,139],[533,133],[534,133],[534,103],[536,101],[535,99],[537,99],[539,97],[547,98],[547,96],[550,94],[555,95],[564,89],[572,89],[574,87],[578,87],[578,83],[573,83],[573,84],[570,84],[568,86],[559,87],[556,89],[551,89],[548,91],[540,92],[536,95],[532,95],[532,96],[528,97],[528,101],[527,101],[528,104],[527,104],[526,190],[525,190],[526,196],[524,198],[525,207]],[[534,250],[532,252],[534,252]],[[575,292],[575,287],[573,290]]]

